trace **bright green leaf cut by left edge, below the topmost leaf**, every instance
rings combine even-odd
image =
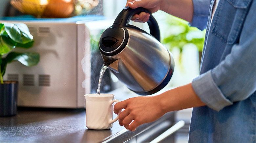
[[[0,35],[0,55],[10,52],[16,44],[8,35]]]

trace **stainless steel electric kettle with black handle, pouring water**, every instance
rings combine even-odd
[[[132,16],[142,11],[150,14],[150,34],[129,24]],[[123,8],[114,24],[102,33],[99,50],[109,70],[139,95],[160,91],[172,77],[173,56],[160,43],[157,21],[145,8]]]

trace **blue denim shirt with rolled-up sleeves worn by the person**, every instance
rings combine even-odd
[[[190,143],[256,143],[256,0],[193,0],[191,26],[206,28],[193,89]]]

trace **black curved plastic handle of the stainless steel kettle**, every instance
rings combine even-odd
[[[149,20],[147,21],[150,34],[154,36],[158,41],[160,41],[160,29],[156,19],[152,16],[151,12],[142,7],[135,9],[132,9],[130,7],[123,8],[123,10],[118,14],[112,27],[126,27],[126,25],[128,25],[131,21],[132,16],[134,14],[139,14],[140,12],[146,12],[150,14]]]

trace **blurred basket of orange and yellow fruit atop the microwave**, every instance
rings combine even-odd
[[[37,18],[66,18],[78,15],[79,10],[96,7],[98,0],[11,0],[10,3],[20,12]]]

